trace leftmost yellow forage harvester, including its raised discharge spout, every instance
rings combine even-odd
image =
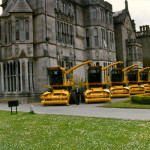
[[[83,66],[93,61],[89,60],[82,64],[79,64],[68,71],[60,66],[50,67],[48,70],[48,77],[50,85],[44,85],[49,89],[41,95],[41,104],[44,105],[55,105],[55,104],[66,104],[75,103],[76,91],[74,86],[74,73],[73,71],[80,66]]]

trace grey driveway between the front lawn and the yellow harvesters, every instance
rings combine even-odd
[[[124,99],[121,99],[124,100]],[[113,102],[118,99],[113,99]],[[127,120],[148,120],[150,121],[150,109],[123,109],[123,108],[103,108],[103,104],[83,104],[70,106],[45,106],[40,103],[20,104],[18,111],[29,112],[33,105],[35,113],[39,114],[61,114],[75,116],[89,116],[100,118],[118,118]],[[0,103],[0,110],[9,110],[8,104]],[[13,107],[15,111],[15,107]]]

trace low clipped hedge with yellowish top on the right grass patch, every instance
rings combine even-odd
[[[133,103],[150,104],[150,94],[140,94],[131,97]]]

